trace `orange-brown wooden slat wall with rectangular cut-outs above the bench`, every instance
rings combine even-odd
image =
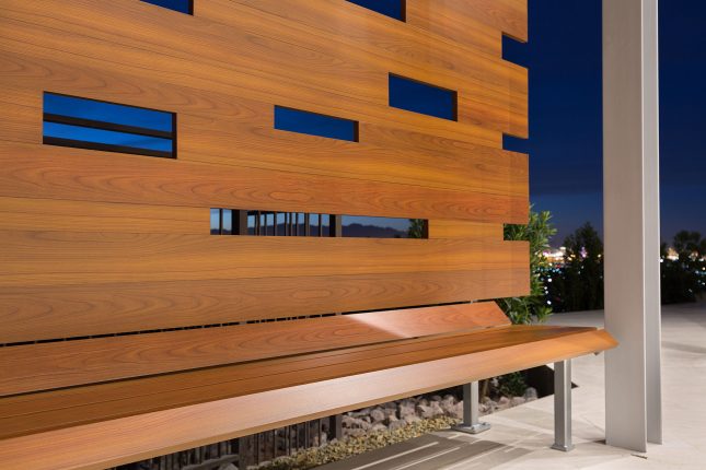
[[[0,343],[521,295],[522,0],[0,0]],[[459,121],[387,106],[387,74]],[[44,91],[177,114],[175,161],[42,144]],[[273,129],[274,105],[360,142]],[[428,240],[212,237],[209,208],[430,220]],[[436,224],[435,224],[436,222]]]

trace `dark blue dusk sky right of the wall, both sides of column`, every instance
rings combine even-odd
[[[530,40],[505,40],[505,58],[530,69],[531,200],[559,233],[586,221],[602,233],[601,1],[530,0]],[[660,2],[662,238],[706,235],[706,1]]]

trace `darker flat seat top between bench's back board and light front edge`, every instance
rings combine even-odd
[[[443,338],[415,339],[377,348],[301,355],[289,361],[258,361],[11,397],[0,400],[0,438],[262,393],[277,388],[393,369],[452,356],[498,351],[537,341],[562,341],[588,332],[595,330],[516,326]]]

